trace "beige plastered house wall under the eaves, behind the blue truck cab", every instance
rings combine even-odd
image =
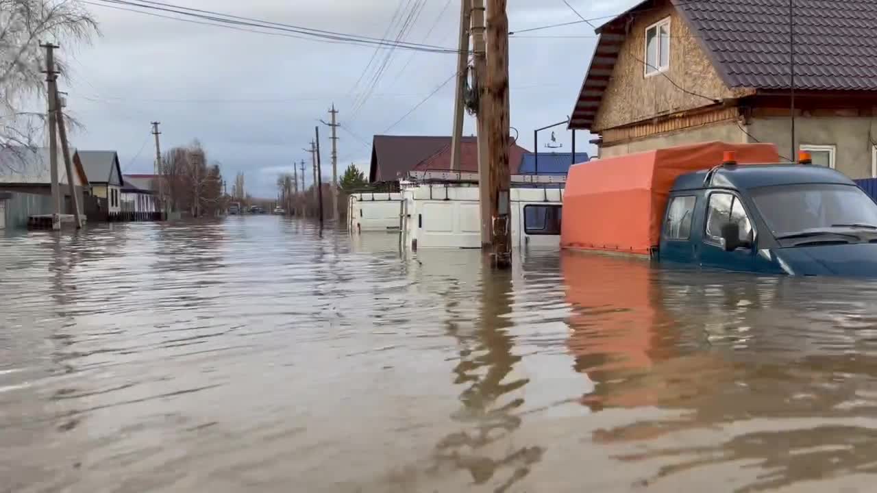
[[[875,126],[870,117],[798,117],[795,118],[795,139],[798,146],[835,146],[835,168],[838,171],[854,180],[871,178],[871,138],[877,135]],[[788,155],[792,140],[788,117],[752,118],[748,130],[755,139],[774,142],[780,155],[796,159],[797,156]]]

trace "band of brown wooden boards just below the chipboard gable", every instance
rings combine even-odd
[[[645,139],[636,139],[616,145],[602,145],[599,148],[600,158],[610,158],[621,154],[641,153],[662,147],[697,144],[699,142],[745,143],[746,134],[734,123],[720,123],[688,128],[677,132],[662,133]]]

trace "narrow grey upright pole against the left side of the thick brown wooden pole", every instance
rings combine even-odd
[[[488,141],[485,122],[488,118],[487,46],[484,40],[484,0],[472,0],[472,45],[474,47],[474,81],[478,89],[478,193],[481,197],[481,248],[490,247],[490,168],[488,167]]]

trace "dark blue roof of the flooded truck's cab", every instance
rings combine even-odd
[[[673,189],[702,189],[708,171],[698,171],[681,175],[674,182]],[[843,173],[822,166],[797,164],[733,166],[716,170],[712,186],[730,189],[753,189],[774,185],[793,185],[802,183],[835,183],[854,185]]]

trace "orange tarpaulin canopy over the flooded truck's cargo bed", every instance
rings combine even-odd
[[[708,142],[574,165],[563,195],[560,246],[649,254],[660,242],[676,178],[721,164],[725,151],[736,152],[740,164],[780,161],[773,144]]]

